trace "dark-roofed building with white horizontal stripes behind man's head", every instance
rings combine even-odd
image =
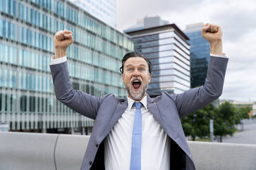
[[[190,88],[189,38],[175,25],[162,25],[127,32],[134,49],[153,64],[147,93],[156,96],[161,90],[182,93]]]

